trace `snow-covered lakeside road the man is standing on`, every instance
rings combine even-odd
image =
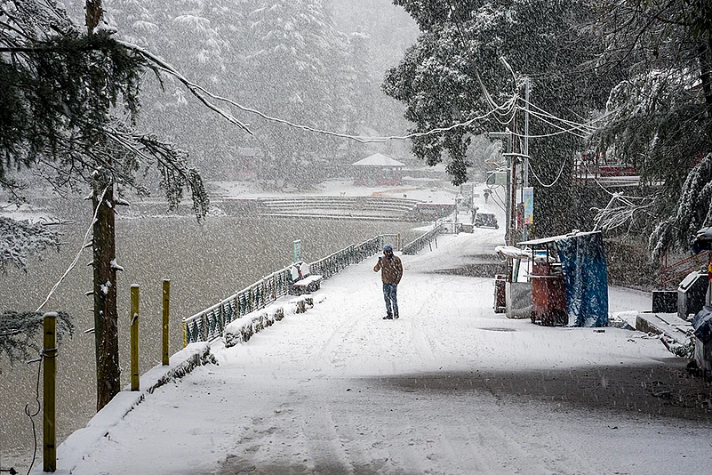
[[[487,239],[403,256],[396,321],[375,258],[340,273],[314,309],[215,345],[219,366],[149,395],[72,473],[709,473],[704,410],[655,393],[702,383],[659,341],[511,320],[492,279],[433,272]],[[611,310],[633,294],[612,288]]]

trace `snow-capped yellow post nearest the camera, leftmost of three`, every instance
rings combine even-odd
[[[55,425],[55,387],[57,382],[57,313],[44,314],[44,416],[43,416],[43,471],[57,470]]]

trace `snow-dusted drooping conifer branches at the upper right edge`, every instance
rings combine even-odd
[[[686,249],[698,229],[712,225],[712,4],[604,0],[598,12],[605,48],[597,63],[624,76],[612,87],[596,140],[640,171],[646,212],[632,212],[631,204],[620,213],[652,231],[657,259]]]

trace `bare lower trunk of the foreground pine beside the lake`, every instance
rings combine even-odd
[[[103,199],[101,199],[102,195]],[[93,223],[96,408],[100,411],[121,390],[114,266],[116,239],[113,183],[95,181],[92,203],[96,213],[96,221]],[[97,206],[99,206],[98,213]]]

